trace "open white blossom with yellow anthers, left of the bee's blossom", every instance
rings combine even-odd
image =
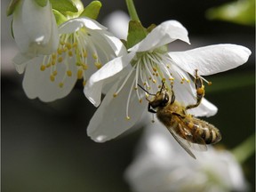
[[[17,55],[13,62],[18,72],[25,71],[23,88],[28,98],[52,101],[65,97],[76,84],[122,52],[122,42],[96,20],[75,18],[59,27],[60,43],[55,52],[24,60]]]

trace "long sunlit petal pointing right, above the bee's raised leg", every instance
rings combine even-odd
[[[185,71],[194,75],[208,76],[244,64],[251,51],[236,44],[215,44],[186,52],[169,52],[172,60]]]

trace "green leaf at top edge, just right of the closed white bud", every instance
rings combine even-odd
[[[50,0],[52,4],[52,9],[58,12],[78,12],[76,4],[71,0]]]

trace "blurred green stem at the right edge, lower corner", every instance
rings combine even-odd
[[[243,164],[255,151],[255,134],[244,140],[239,146],[232,149],[232,153],[236,156],[236,160]]]

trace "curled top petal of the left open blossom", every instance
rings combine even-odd
[[[62,23],[59,27],[59,32],[60,34],[69,34],[69,33],[74,33],[78,29],[85,27],[85,28],[90,28],[92,30],[106,30],[104,26],[100,25],[99,22],[96,20],[92,20],[90,18],[82,17],[82,18],[75,18],[68,20],[64,23]]]

